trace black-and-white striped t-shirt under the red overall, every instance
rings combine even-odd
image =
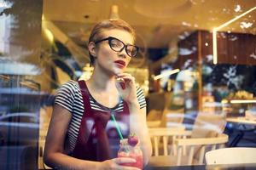
[[[137,88],[137,99],[140,109],[146,107],[146,100],[141,88]],[[66,150],[70,153],[75,147],[79,135],[80,123],[84,114],[84,103],[79,83],[73,80],[64,83],[58,90],[55,98],[55,104],[61,105],[67,109],[67,111],[72,113],[72,119],[67,129],[66,141]],[[96,102],[96,99],[90,95],[90,107],[92,110],[96,111],[112,111],[118,113],[123,111],[124,105],[123,99],[120,99],[119,104],[110,109]]]

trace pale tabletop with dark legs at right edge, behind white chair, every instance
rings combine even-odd
[[[232,122],[232,123],[238,123],[238,124],[241,124],[242,126],[244,126],[244,129],[237,129],[239,131],[239,133],[230,142],[229,147],[236,146],[239,143],[239,141],[242,139],[242,137],[244,136],[244,133],[256,130],[256,121],[247,119],[245,116],[228,117],[226,119],[226,121],[227,122]],[[252,126],[255,126],[255,127],[247,129],[247,127],[245,125],[252,125]],[[256,141],[253,141],[253,142],[256,143]]]

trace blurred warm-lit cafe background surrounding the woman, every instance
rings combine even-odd
[[[126,72],[147,103],[145,169],[256,168],[256,0],[0,0],[0,169],[49,168],[55,95],[90,78],[88,38],[106,19],[137,32]]]

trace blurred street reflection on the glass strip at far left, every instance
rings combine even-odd
[[[42,1],[0,0],[0,169],[37,168]]]

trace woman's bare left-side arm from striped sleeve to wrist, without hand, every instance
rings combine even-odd
[[[84,166],[96,168],[96,162],[85,162],[65,154],[64,141],[71,117],[72,114],[61,105],[54,106],[45,141],[44,162],[49,167],[61,169],[83,169]]]

